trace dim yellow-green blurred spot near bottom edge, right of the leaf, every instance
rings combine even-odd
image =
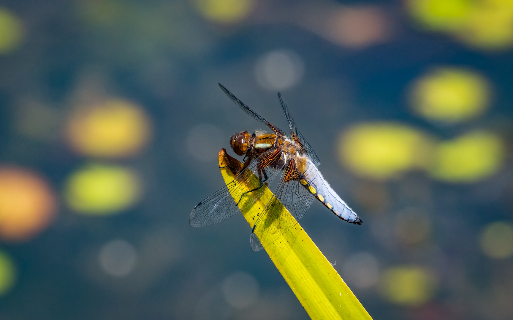
[[[428,302],[436,288],[435,276],[419,266],[397,266],[381,275],[380,289],[390,302],[418,306]]]

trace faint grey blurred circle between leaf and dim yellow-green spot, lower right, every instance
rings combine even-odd
[[[359,289],[368,289],[378,283],[378,260],[368,252],[359,252],[349,257],[342,270],[344,281]]]

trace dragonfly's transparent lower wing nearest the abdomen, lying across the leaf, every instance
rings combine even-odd
[[[269,200],[260,215],[262,218],[259,218],[252,230],[250,244],[253,251],[263,249],[294,227],[312,204],[313,195],[301,185],[298,177],[295,162],[291,159],[283,170],[280,182],[274,191],[274,197]],[[280,203],[287,208],[292,217],[286,214]],[[258,232],[262,241],[255,234],[257,228],[263,230]]]

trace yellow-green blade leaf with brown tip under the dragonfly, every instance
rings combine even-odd
[[[236,177],[228,165],[242,168],[242,164],[223,149],[219,153],[219,166],[226,184]],[[248,205],[244,200],[239,204],[251,228],[272,197],[271,190],[264,188],[254,204]],[[279,206],[278,219],[294,219],[281,203]],[[299,223],[274,241],[261,238],[272,237],[264,229],[256,228],[255,233],[262,243],[270,243],[265,247],[267,254],[312,319],[372,319]]]

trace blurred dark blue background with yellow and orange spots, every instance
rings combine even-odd
[[[3,0],[0,318],[307,319],[223,186],[287,130],[365,221],[301,225],[374,319],[513,318],[510,0]]]

